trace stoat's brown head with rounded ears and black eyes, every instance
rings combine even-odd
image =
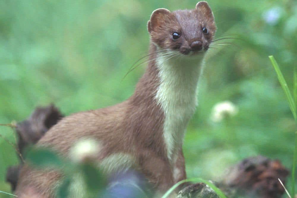
[[[158,47],[187,55],[208,50],[216,25],[209,5],[200,1],[192,10],[156,9],[148,22],[148,31]]]

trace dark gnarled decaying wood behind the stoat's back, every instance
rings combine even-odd
[[[27,120],[17,123],[19,152],[23,154],[27,146],[35,144],[62,117],[60,111],[51,104],[47,107],[37,107]],[[6,181],[11,184],[12,190],[16,187],[18,174],[22,167],[22,159],[20,161],[19,165],[7,169]]]

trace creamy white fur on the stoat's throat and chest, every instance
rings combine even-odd
[[[203,54],[168,58],[158,55],[160,85],[156,99],[165,121],[163,137],[167,156],[175,158],[184,140],[184,132],[197,106],[197,84],[202,70]],[[166,55],[165,55],[166,56]]]

